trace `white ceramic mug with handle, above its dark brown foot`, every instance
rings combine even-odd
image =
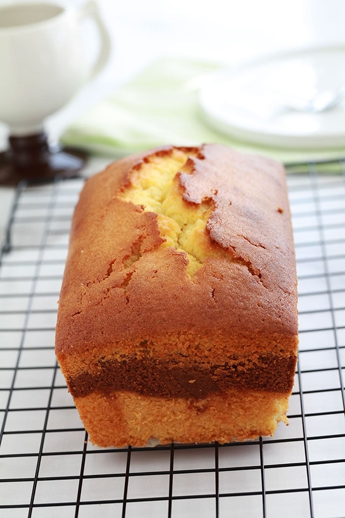
[[[100,35],[93,66],[81,33],[85,18],[95,21]],[[109,34],[94,0],[79,9],[58,3],[0,7],[0,121],[14,136],[41,132],[43,120],[100,71],[109,53]]]

